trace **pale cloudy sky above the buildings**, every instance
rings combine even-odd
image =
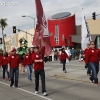
[[[22,15],[36,18],[35,0],[0,0],[0,3],[18,2],[18,6],[1,6],[0,18],[7,18],[8,26],[5,34],[12,34],[12,26],[27,30],[34,27],[34,20]],[[92,13],[100,14],[100,0],[41,0],[46,18],[59,12],[74,12],[76,15],[76,25],[81,24],[82,8],[86,18],[92,18]],[[100,18],[98,16],[97,18]],[[1,34],[1,30],[0,30]]]

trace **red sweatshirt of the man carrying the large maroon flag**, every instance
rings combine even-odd
[[[44,54],[45,54],[45,47],[42,47],[41,52],[42,52],[42,56],[41,56],[41,53],[39,53],[39,54],[34,53],[32,55],[32,60],[34,61],[34,60],[43,59],[44,58]],[[34,62],[34,70],[40,70],[40,69],[44,69],[44,62]]]

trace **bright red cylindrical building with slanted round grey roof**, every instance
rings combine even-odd
[[[48,18],[48,31],[52,47],[75,46],[71,35],[76,35],[75,14],[62,12]]]

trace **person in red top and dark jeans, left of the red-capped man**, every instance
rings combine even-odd
[[[5,72],[7,72],[8,80],[10,81],[10,74],[8,72],[8,53],[4,52],[2,60],[1,60],[1,65],[3,69],[3,80],[5,81]]]

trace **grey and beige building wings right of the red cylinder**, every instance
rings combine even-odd
[[[100,48],[100,19],[87,19],[92,41]],[[81,48],[81,25],[76,26],[76,35],[71,35],[72,42],[76,43],[77,47]]]

